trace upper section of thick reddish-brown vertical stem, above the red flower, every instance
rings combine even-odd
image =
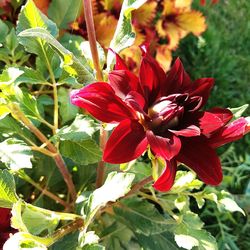
[[[84,16],[87,26],[89,45],[94,67],[96,70],[96,78],[98,81],[102,81],[103,78],[102,78],[101,67],[99,64],[98,50],[96,46],[96,35],[95,35],[95,26],[94,26],[91,0],[83,0],[83,5],[84,5]]]

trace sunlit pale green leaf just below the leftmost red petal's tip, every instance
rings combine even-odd
[[[70,126],[57,131],[56,137],[60,140],[82,141],[90,139],[99,127],[100,125],[89,117],[78,114]]]

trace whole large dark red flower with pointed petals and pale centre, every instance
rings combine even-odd
[[[147,147],[166,161],[154,183],[159,191],[174,182],[177,162],[193,169],[206,184],[222,180],[215,148],[240,139],[249,123],[240,118],[231,123],[230,110],[202,111],[213,87],[212,78],[191,81],[180,59],[166,75],[145,50],[139,77],[122,59],[109,74],[109,83],[96,82],[71,93],[71,102],[106,123],[119,123],[112,132],[103,159],[124,163],[139,157]]]

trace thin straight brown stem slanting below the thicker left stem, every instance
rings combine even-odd
[[[32,180],[24,171],[19,171],[18,172],[18,176],[20,178],[22,178],[23,180],[27,181],[28,183],[30,183],[32,186],[34,186],[36,189],[38,189],[39,191],[41,191],[42,194],[48,196],[49,198],[51,198],[52,200],[60,203],[61,205],[63,205],[66,208],[69,208],[70,205],[62,200],[61,198],[59,198],[58,196],[56,196],[55,194],[51,193],[50,191],[48,191],[46,188],[41,187],[37,182],[35,182],[34,180]]]

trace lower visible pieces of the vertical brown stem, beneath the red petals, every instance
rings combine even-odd
[[[103,152],[105,144],[107,142],[108,133],[103,127],[100,129],[100,148]],[[105,174],[105,162],[100,161],[97,166],[97,176],[96,176],[96,188],[99,188],[103,184],[103,178]]]

